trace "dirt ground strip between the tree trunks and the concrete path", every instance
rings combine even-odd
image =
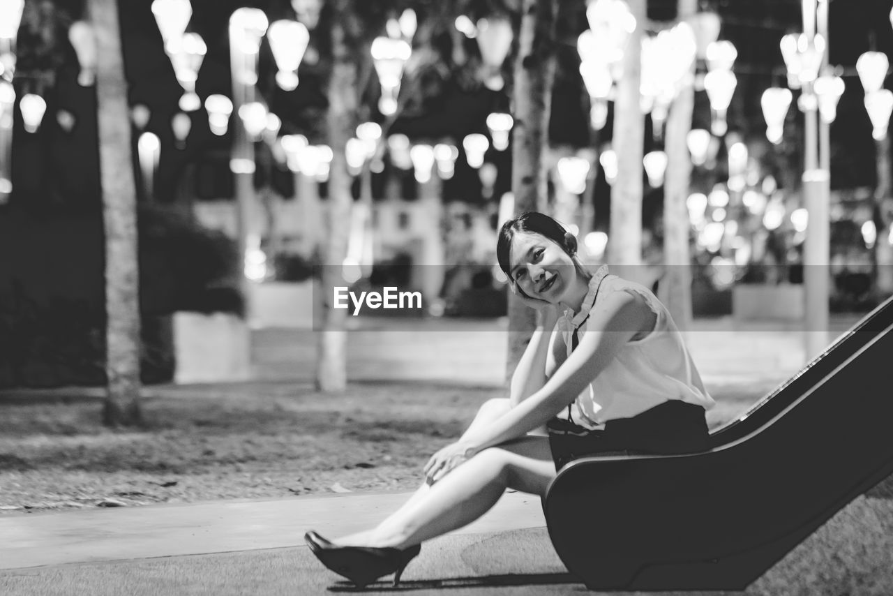
[[[775,386],[708,388],[721,424]],[[408,491],[498,388],[292,382],[146,389],[146,425],[109,430],[99,399],[0,396],[0,514],[321,492]]]

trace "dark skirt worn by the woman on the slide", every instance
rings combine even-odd
[[[563,418],[547,424],[555,470],[592,455],[665,455],[708,449],[705,410],[670,399],[631,418],[615,418],[604,430],[590,430]]]

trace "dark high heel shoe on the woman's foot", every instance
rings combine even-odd
[[[394,587],[400,583],[403,570],[419,552],[421,545],[408,549],[376,548],[369,546],[338,546],[311,530],[304,540],[322,565],[346,577],[359,588],[366,587],[382,575],[394,574]]]

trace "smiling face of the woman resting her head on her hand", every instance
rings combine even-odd
[[[553,240],[536,232],[514,233],[509,266],[509,279],[518,290],[551,304],[560,302],[577,279],[571,256]]]

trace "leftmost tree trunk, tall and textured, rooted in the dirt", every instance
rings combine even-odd
[[[96,108],[105,225],[104,424],[142,422],[139,408],[137,187],[116,0],[88,0],[96,31]]]

